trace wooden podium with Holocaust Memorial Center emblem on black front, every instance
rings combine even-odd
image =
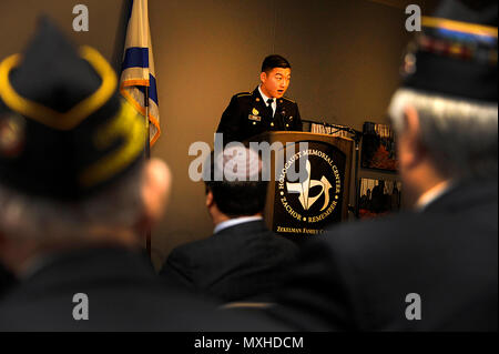
[[[347,219],[352,139],[275,131],[249,140],[274,148],[265,206],[271,230],[285,236],[307,236]]]

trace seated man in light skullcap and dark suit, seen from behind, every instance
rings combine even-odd
[[[298,249],[265,225],[268,182],[258,154],[226,148],[210,160],[204,180],[213,235],[173,250],[161,274],[223,302],[261,301],[281,284]]]

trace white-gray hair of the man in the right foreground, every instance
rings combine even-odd
[[[399,89],[388,113],[396,133],[413,107],[419,115],[421,143],[446,176],[493,176],[498,168],[498,105]]]

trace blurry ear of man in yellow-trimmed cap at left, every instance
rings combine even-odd
[[[172,174],[167,165],[159,159],[145,162],[142,179],[143,218],[147,224],[154,224],[163,214],[170,196]]]

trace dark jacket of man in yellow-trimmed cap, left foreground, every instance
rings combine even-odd
[[[73,295],[89,299],[89,320],[73,318]],[[86,249],[59,254],[0,301],[2,331],[254,331],[275,326],[216,310],[167,289],[141,254]]]

